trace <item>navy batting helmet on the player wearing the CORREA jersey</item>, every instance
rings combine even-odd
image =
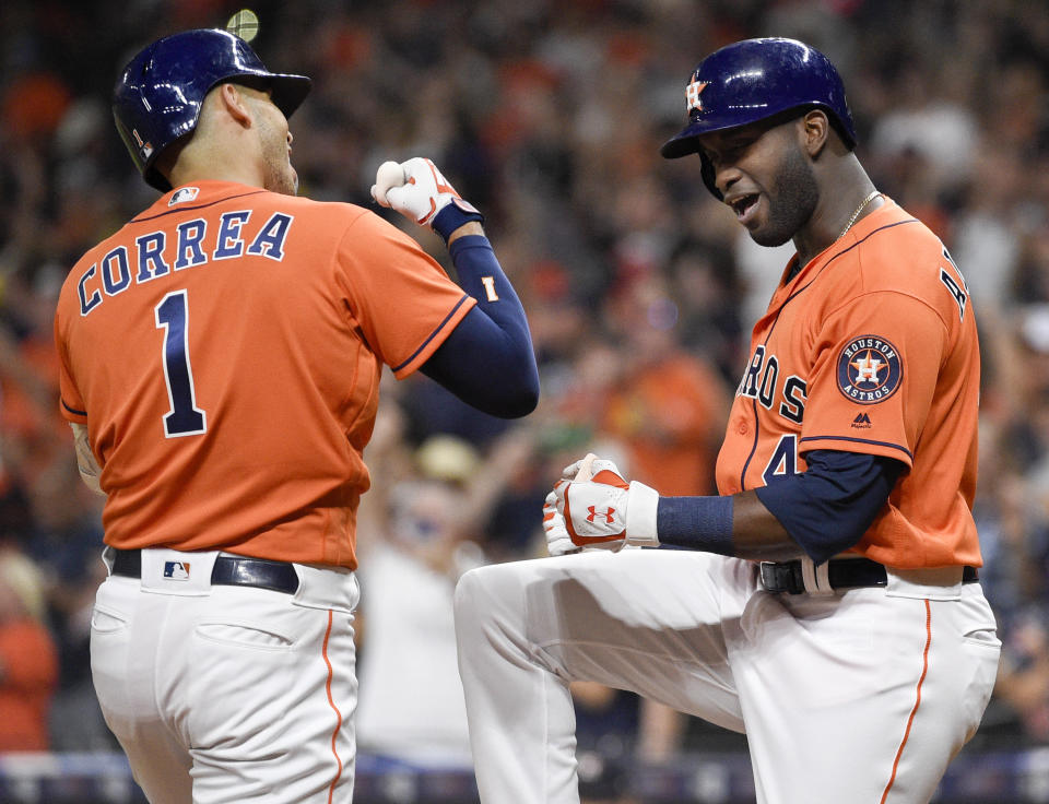
[[[270,72],[248,43],[220,29],[166,36],[131,59],[113,91],[113,116],[146,182],[162,192],[172,189],[154,167],[157,156],[197,128],[204,96],[226,81],[266,86],[285,117],[310,86],[305,75]]]

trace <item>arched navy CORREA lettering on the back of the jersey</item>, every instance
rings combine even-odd
[[[282,262],[294,217],[274,212],[254,233],[246,230],[250,221],[251,210],[225,212],[219,218],[217,230],[209,230],[208,221],[195,217],[178,224],[174,237],[170,232],[156,229],[135,237],[133,248],[115,246],[81,274],[76,283],[80,315],[89,315],[107,296],[118,296],[132,284],[141,285],[176,271],[244,256]]]

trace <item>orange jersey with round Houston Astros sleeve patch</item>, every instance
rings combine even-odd
[[[802,472],[809,450],[887,456],[907,470],[850,552],[899,569],[980,566],[979,344],[947,250],[886,199],[789,270],[754,327],[719,492]]]

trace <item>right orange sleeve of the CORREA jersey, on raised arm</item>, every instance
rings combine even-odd
[[[338,259],[364,339],[399,379],[423,365],[476,304],[415,240],[372,212],[350,225]]]

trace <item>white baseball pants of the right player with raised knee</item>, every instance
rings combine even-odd
[[[579,802],[568,682],[587,679],[745,732],[759,804],[928,802],[1001,648],[979,583],[946,574],[816,596],[683,551],[472,570],[456,623],[481,800]]]

